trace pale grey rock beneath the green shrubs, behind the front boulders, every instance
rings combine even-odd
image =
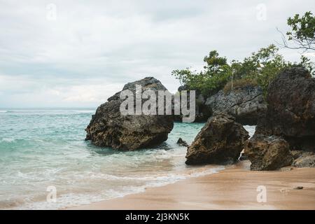
[[[212,113],[228,113],[242,125],[256,125],[265,114],[267,104],[259,86],[235,87],[225,93],[220,90],[209,97],[205,104]]]

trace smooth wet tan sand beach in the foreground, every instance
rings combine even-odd
[[[239,162],[217,174],[68,209],[315,209],[314,168],[253,172],[248,166]],[[266,202],[258,202],[258,186],[265,186]]]

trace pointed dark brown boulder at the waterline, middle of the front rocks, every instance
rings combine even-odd
[[[215,115],[209,118],[188,147],[186,164],[231,164],[239,158],[248,137],[248,132],[235,122],[235,118]]]

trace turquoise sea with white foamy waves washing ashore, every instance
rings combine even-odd
[[[186,148],[203,124],[176,123],[157,148],[97,148],[85,139],[92,109],[0,110],[0,209],[59,209],[144,191],[223,167],[188,167]],[[252,127],[246,127],[252,129]],[[48,186],[57,202],[46,202]]]

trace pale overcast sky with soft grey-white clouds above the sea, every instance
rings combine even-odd
[[[314,0],[0,0],[0,108],[97,107],[146,76],[176,92],[172,70],[280,43],[276,29],[309,10]]]

